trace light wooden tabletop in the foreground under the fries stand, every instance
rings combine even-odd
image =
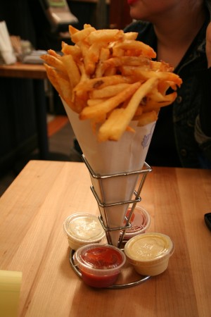
[[[30,161],[0,199],[0,268],[22,271],[19,316],[210,317],[211,170],[153,168],[141,192],[149,231],[170,235],[167,271],[123,290],[93,289],[70,266],[63,221],[98,214],[84,163]]]

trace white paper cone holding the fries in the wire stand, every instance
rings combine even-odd
[[[107,141],[99,143],[96,135],[91,130],[89,120],[79,120],[78,114],[72,111],[63,101],[65,111],[72,125],[72,130],[79,142],[79,146],[95,174],[112,175],[114,173],[132,172],[141,170],[151,137],[155,128],[155,123],[144,127],[138,127],[137,121],[132,121],[130,126],[135,133],[124,132],[117,142]],[[91,179],[96,194],[103,203],[111,204],[119,201],[132,199],[139,175],[128,175],[101,180]],[[128,204],[106,207],[106,218],[110,228],[123,226],[124,216],[127,212]],[[111,231],[112,244],[117,246],[120,232]]]

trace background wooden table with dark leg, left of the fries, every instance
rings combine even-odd
[[[46,100],[44,94],[44,79],[47,78],[43,65],[15,63],[1,65],[0,77],[25,78],[34,80],[35,111],[37,116],[37,133],[40,159],[49,159],[49,142],[46,123]]]

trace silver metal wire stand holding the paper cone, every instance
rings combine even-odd
[[[91,168],[91,166],[89,165],[87,159],[85,158],[84,154],[82,154],[82,159],[84,161],[84,163],[86,164],[88,170],[89,170],[89,174],[91,177],[91,192],[94,194],[94,197],[97,201],[98,204],[98,209],[100,211],[100,216],[98,216],[101,225],[103,226],[103,229],[106,232],[106,239],[108,241],[108,244],[113,244],[112,243],[112,238],[111,238],[111,232],[118,230],[120,232],[120,237],[117,243],[117,247],[121,249],[122,244],[124,243],[124,234],[126,232],[127,229],[131,228],[131,223],[130,220],[132,218],[135,206],[138,202],[141,201],[141,190],[143,188],[143,184],[146,180],[146,176],[148,175],[149,172],[152,171],[151,166],[148,165],[148,163],[144,162],[143,164],[143,168],[141,170],[134,170],[131,172],[123,172],[123,173],[114,173],[114,174],[109,174],[109,175],[99,175],[94,173],[94,170]],[[103,186],[102,186],[102,181],[106,180],[106,179],[113,179],[113,178],[121,178],[121,177],[129,177],[131,175],[137,175],[137,177],[139,177],[139,175],[141,175],[141,178],[139,179],[139,187],[136,185],[136,187],[138,187],[138,189],[134,190],[134,199],[128,199],[125,201],[115,201],[115,202],[109,202],[106,203],[103,199]],[[96,182],[98,183],[98,188],[101,189],[101,198],[99,197],[99,195],[96,193],[96,190],[94,188],[94,184],[96,184]],[[127,204],[128,206],[131,205],[132,208],[129,211],[129,214],[127,214],[127,216],[124,216],[124,226],[120,226],[120,227],[116,227],[116,228],[110,228],[108,225],[108,218],[106,215],[106,208],[110,208],[110,207],[115,207],[115,206],[120,206],[123,204]],[[74,259],[73,259],[73,255],[74,255],[74,251],[71,250],[70,251],[70,264],[73,268],[73,270],[75,271],[75,273],[77,273],[77,275],[79,277],[82,277],[82,274],[79,272],[77,266],[75,266],[74,263]],[[139,285],[143,282],[145,282],[146,280],[148,280],[149,278],[151,278],[151,276],[143,276],[140,280],[134,281],[134,282],[128,282],[125,284],[120,284],[120,285],[112,285],[110,287],[110,289],[122,289],[122,288],[126,288],[126,287],[132,287],[135,285]]]

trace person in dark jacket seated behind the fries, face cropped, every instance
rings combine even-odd
[[[211,168],[211,1],[128,0],[135,20],[124,32],[170,63],[183,83],[160,109],[148,149],[151,166]],[[207,42],[206,42],[207,39]]]

